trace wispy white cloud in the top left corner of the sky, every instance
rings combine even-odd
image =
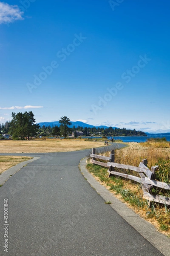
[[[23,14],[24,12],[22,12],[17,5],[9,5],[8,3],[0,2],[0,24],[23,20]]]

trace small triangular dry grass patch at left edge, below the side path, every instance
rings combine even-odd
[[[15,166],[18,163],[29,160],[31,158],[32,157],[0,156],[0,174],[12,166]]]

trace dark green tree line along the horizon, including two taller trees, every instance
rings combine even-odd
[[[24,113],[14,113],[12,112],[11,122],[6,122],[0,125],[0,138],[3,134],[10,134],[14,140],[26,140],[30,137],[50,137],[50,136],[63,136],[67,137],[68,134],[74,134],[77,137],[77,132],[81,132],[84,136],[144,136],[146,135],[142,131],[136,131],[135,129],[130,130],[126,128],[96,128],[96,127],[78,127],[70,128],[71,121],[67,116],[62,116],[59,119],[59,126],[48,126],[45,127],[35,123],[34,114],[32,111]]]

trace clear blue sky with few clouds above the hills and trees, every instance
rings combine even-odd
[[[170,2],[0,1],[0,123],[170,132]]]

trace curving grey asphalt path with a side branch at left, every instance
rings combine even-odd
[[[88,154],[89,150],[30,154],[40,159],[0,187],[0,255],[162,255],[82,176],[78,165]],[[8,199],[8,226],[3,220],[4,198]],[[4,227],[8,253],[3,251]]]

